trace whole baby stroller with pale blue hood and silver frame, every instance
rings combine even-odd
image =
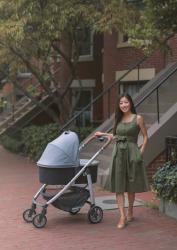
[[[26,222],[32,222],[36,228],[43,228],[47,223],[47,207],[50,204],[75,215],[85,203],[90,205],[88,220],[91,223],[102,221],[103,211],[95,205],[92,184],[97,181],[99,162],[95,158],[108,146],[110,138],[106,136],[106,143],[91,159],[79,159],[81,149],[95,138],[92,136],[79,146],[77,134],[65,131],[48,143],[37,162],[39,180],[43,185],[34,195],[31,208],[23,212],[23,219]],[[48,185],[56,185],[53,190],[55,193],[48,191],[50,190],[47,189]],[[39,197],[42,198],[42,202],[37,201]],[[42,208],[39,214],[36,214],[37,207]]]

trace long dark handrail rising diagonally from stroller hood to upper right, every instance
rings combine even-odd
[[[115,85],[117,85],[125,76],[127,76],[133,69],[142,64],[147,59],[147,56],[143,57],[134,65],[130,66],[130,68],[125,72],[118,80],[114,81],[111,85],[109,85],[101,94],[95,97],[89,104],[87,104],[80,112],[74,115],[65,125],[60,129],[61,133],[64,129],[68,127],[74,120],[76,120],[84,111],[86,111],[90,106],[92,106],[95,102],[97,102],[101,97],[103,97],[106,93],[108,93]]]

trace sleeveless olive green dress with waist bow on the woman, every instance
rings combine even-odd
[[[105,189],[114,193],[146,192],[149,190],[142,154],[137,145],[140,131],[137,116],[128,123],[120,122]]]

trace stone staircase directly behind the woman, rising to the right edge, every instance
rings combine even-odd
[[[138,114],[144,117],[148,128],[149,143],[144,153],[144,164],[148,166],[161,152],[165,150],[165,137],[177,134],[177,63],[168,65],[150,80],[136,96],[133,97]],[[111,131],[114,115],[106,120],[97,131]],[[138,144],[141,145],[142,137]],[[93,142],[81,154],[90,157],[95,154],[99,142]],[[113,143],[99,155],[98,184],[104,186],[111,161]]]

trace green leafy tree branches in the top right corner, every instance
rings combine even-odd
[[[145,0],[137,24],[128,29],[132,44],[148,53],[169,49],[168,40],[177,33],[176,13],[176,0]]]

